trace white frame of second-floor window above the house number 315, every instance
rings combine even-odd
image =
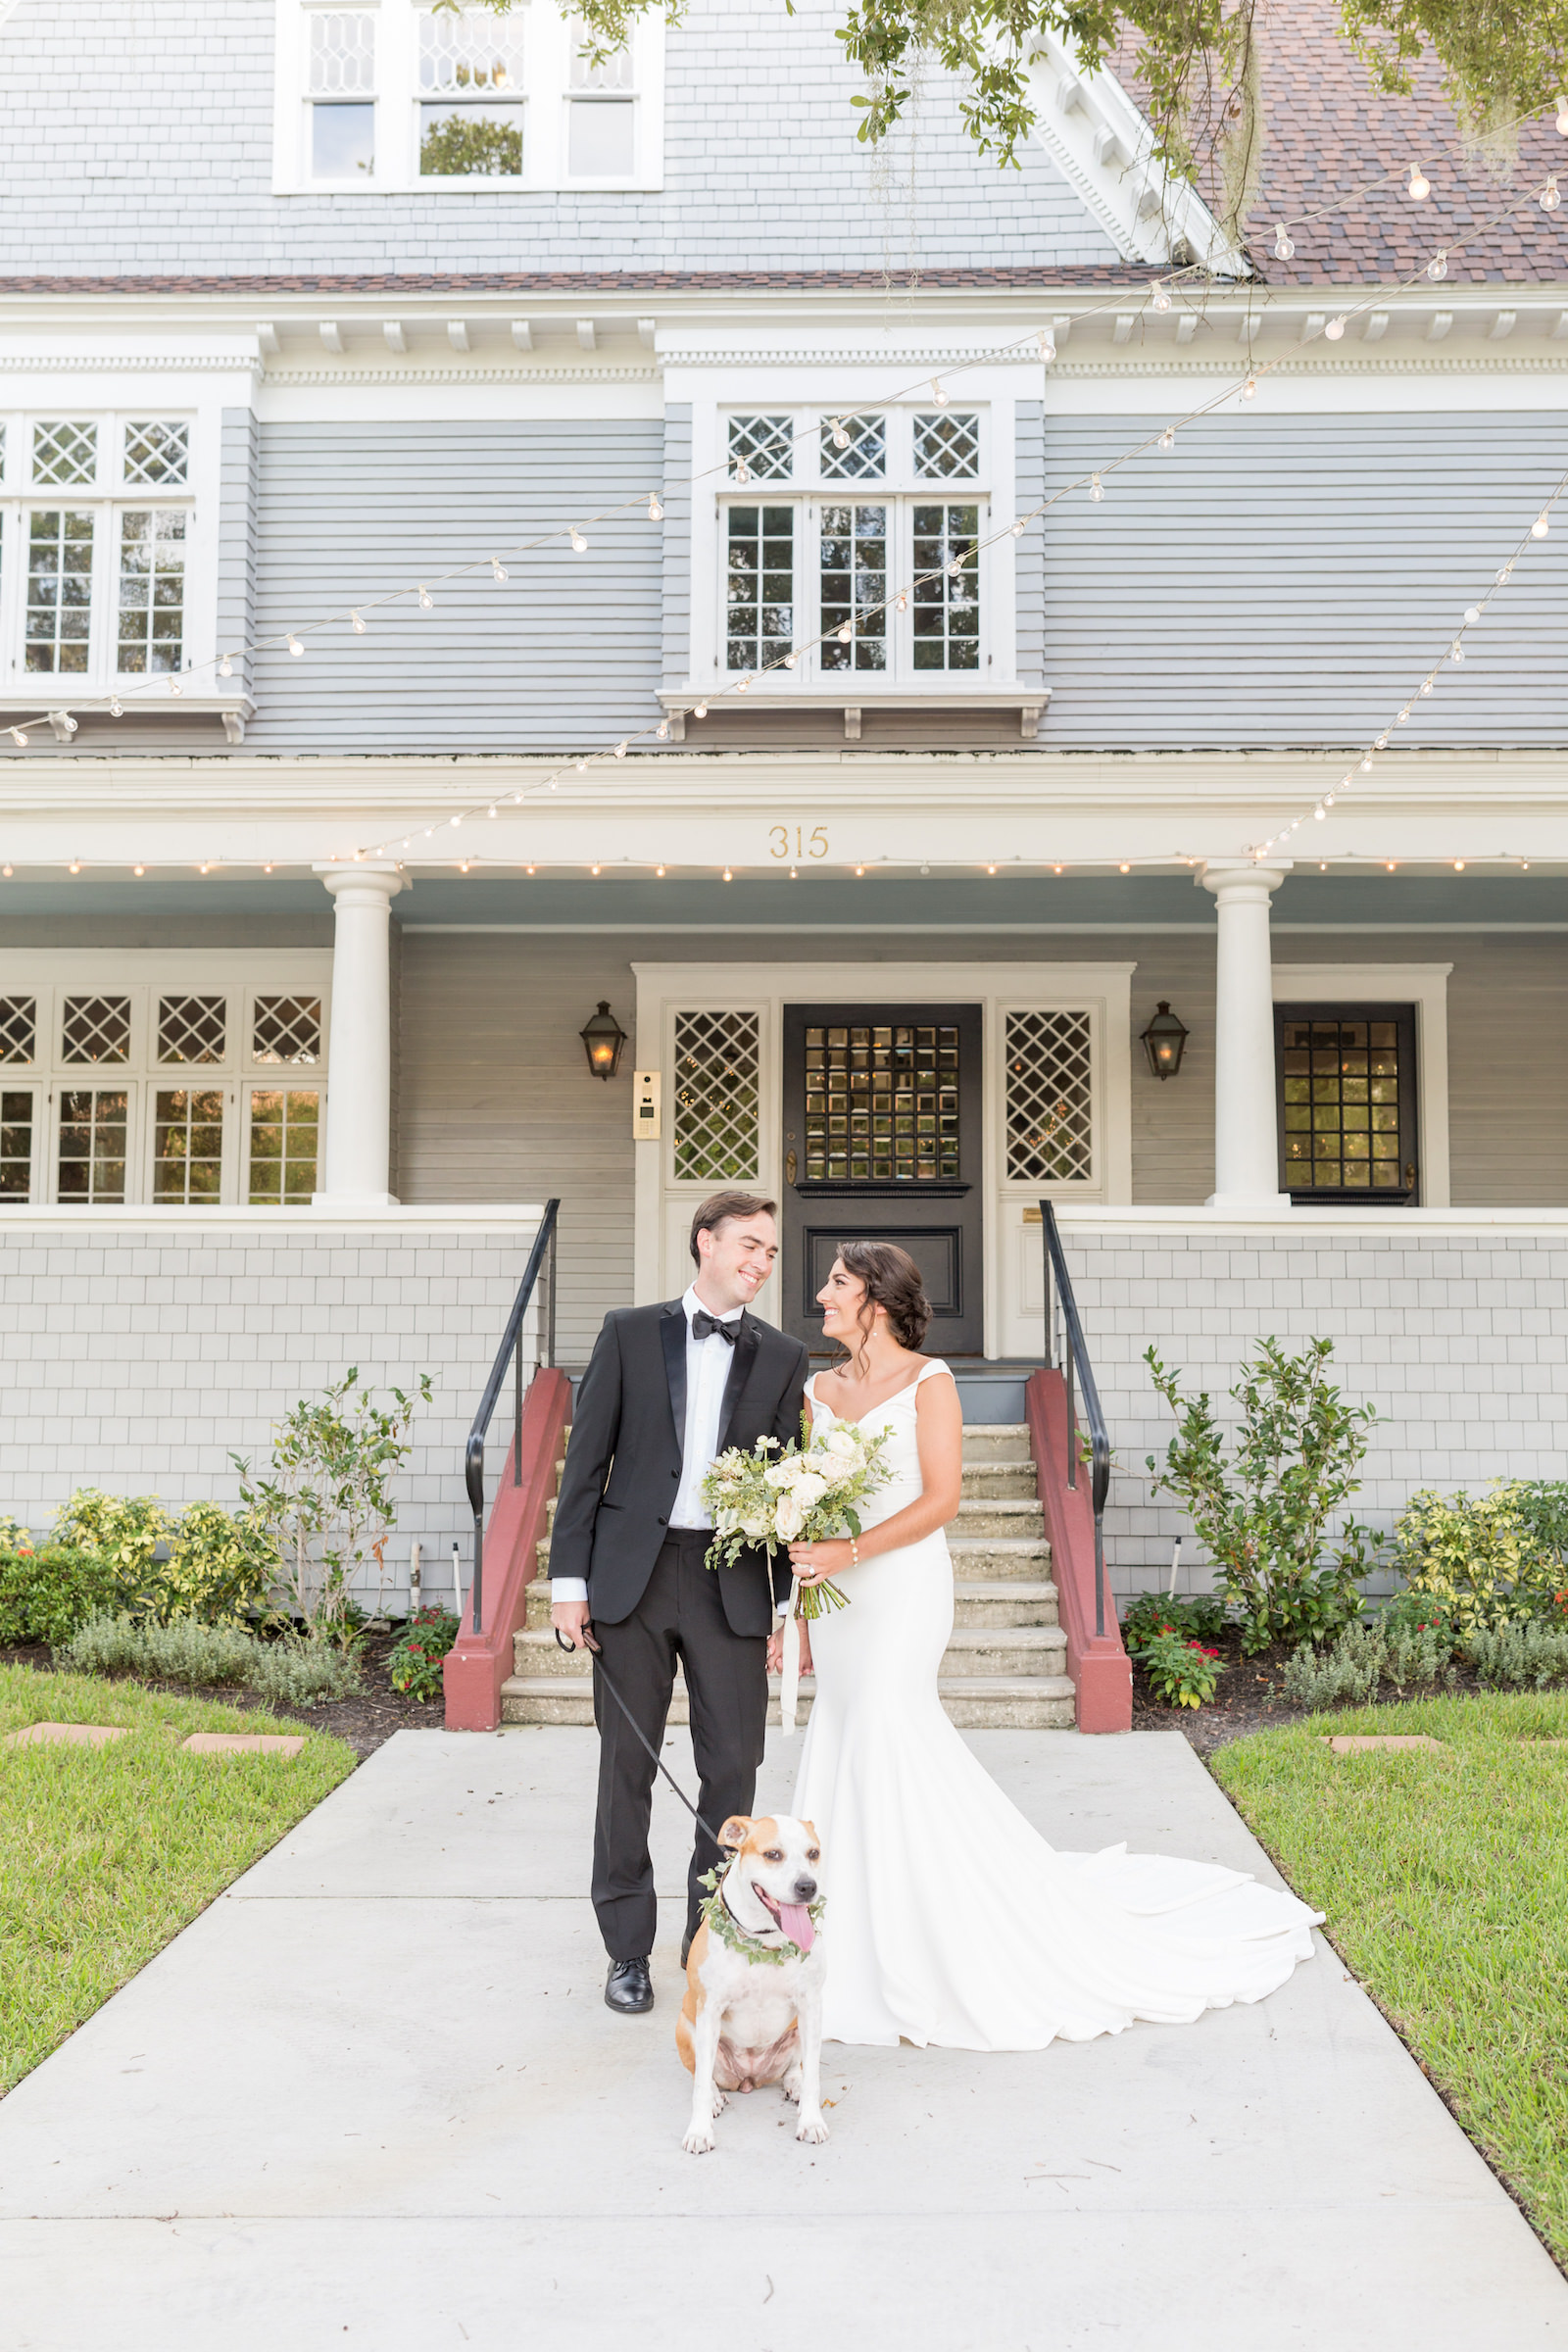
[[[795,670],[773,666],[748,687],[752,708],[922,703],[947,708],[1016,708],[1020,701],[1044,701],[1041,687],[1018,680],[1018,597],[1016,548],[1006,532],[1016,510],[1013,405],[1020,395],[1011,374],[976,369],[950,388],[950,407],[980,419],[978,470],[969,477],[924,480],[914,473],[914,416],[936,412],[931,386],[912,395],[907,374],[893,386],[896,397],[877,390],[860,372],[844,372],[844,390],[811,386],[813,397],[776,372],[724,374],[717,383],[686,388],[670,379],[665,395],[693,397],[693,477],[701,482],[691,501],[691,640],[689,675],[665,680],[661,696],[670,706],[689,706],[693,694],[733,689],[743,675],[726,663],[726,557],[731,506],[795,506],[795,642],[811,644]],[[825,480],[820,473],[820,430],[832,416],[882,414],[889,419],[886,470],[882,480]],[[783,480],[736,485],[729,475],[731,416],[790,416],[797,428],[795,473]],[[717,489],[712,485],[719,485]],[[820,510],[823,506],[889,506],[891,553],[889,593],[903,588],[912,572],[910,536],[914,506],[978,506],[980,588],[980,663],[973,670],[917,670],[912,663],[912,612],[889,614],[893,623],[886,670],[830,670],[813,640],[820,633]],[[992,546],[985,541],[992,539]]]

